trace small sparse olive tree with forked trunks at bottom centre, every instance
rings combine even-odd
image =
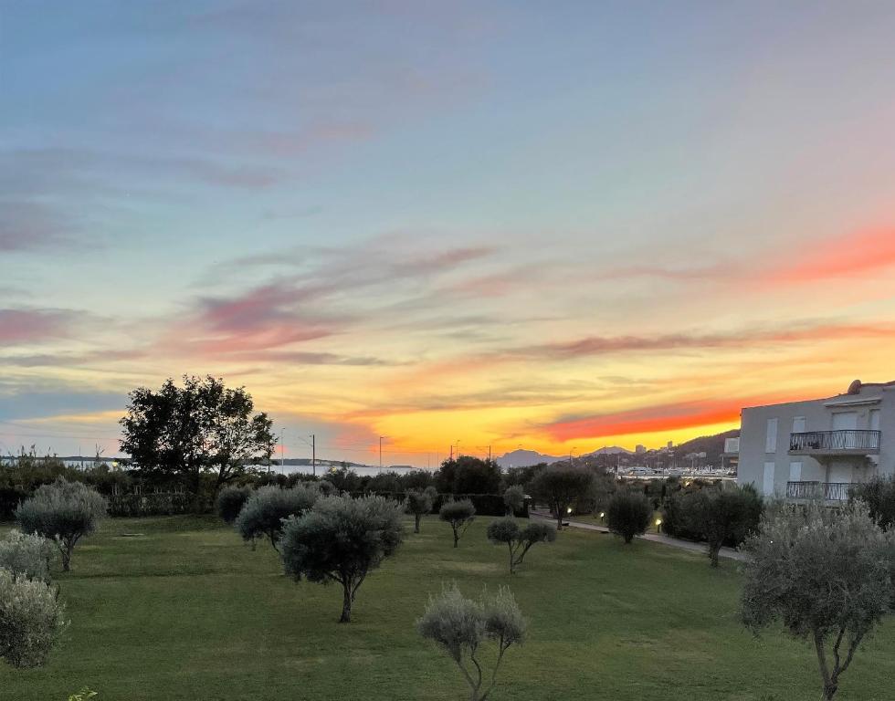
[[[470,701],[485,701],[497,681],[503,655],[525,637],[525,619],[512,592],[501,587],[493,596],[483,592],[479,601],[464,597],[457,585],[430,597],[426,612],[416,621],[416,630],[435,641],[457,664],[469,685]],[[497,645],[490,675],[485,669],[482,648]]]

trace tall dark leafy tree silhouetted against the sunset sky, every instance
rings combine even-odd
[[[121,450],[146,473],[184,478],[196,497],[203,473],[215,476],[217,490],[247,462],[269,459],[276,443],[273,422],[255,413],[246,389],[210,375],[184,375],[183,387],[169,378],[157,391],[140,387],[129,396]]]

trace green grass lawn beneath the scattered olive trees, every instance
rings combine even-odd
[[[280,572],[214,518],[106,521],[58,574],[71,625],[42,669],[0,664],[0,697],[60,701],[83,685],[97,701],[468,698],[446,654],[414,622],[430,592],[511,585],[529,639],[507,654],[492,698],[816,701],[813,651],[781,634],[755,640],[737,620],[740,576],[655,543],[569,530],[536,546],[519,574],[479,518],[451,548],[426,518],[363,583],[353,623],[342,591]],[[122,533],[142,533],[122,538]],[[893,696],[895,626],[856,656],[837,698]]]

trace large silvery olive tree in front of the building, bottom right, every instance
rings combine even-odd
[[[893,545],[862,503],[775,505],[744,544],[743,623],[757,634],[779,621],[812,643],[832,699],[861,641],[892,611]]]

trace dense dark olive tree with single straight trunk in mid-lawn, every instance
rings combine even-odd
[[[280,549],[287,574],[299,581],[342,585],[342,617],[349,623],[357,590],[404,539],[403,507],[384,497],[323,497],[283,528]]]

